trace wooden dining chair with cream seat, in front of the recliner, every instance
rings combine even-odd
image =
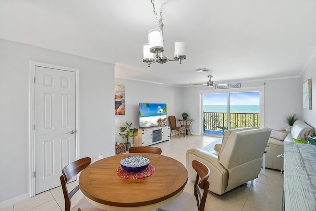
[[[210,169],[200,161],[193,160],[192,167],[197,172],[194,194],[183,191],[173,202],[158,208],[157,211],[204,211],[208,193]],[[196,201],[196,202],[195,202]]]

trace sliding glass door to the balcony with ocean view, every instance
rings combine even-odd
[[[202,95],[203,133],[222,135],[225,130],[260,127],[260,91]]]

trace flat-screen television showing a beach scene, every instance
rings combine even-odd
[[[167,123],[166,103],[139,103],[139,128]]]

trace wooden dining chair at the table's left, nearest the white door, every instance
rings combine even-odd
[[[79,172],[81,172],[83,169],[85,169],[87,166],[89,166],[91,163],[91,158],[81,158],[77,161],[74,161],[62,169],[62,174],[60,176],[60,183],[64,194],[65,199],[65,211],[104,211],[97,207],[94,207],[91,205],[84,196],[80,198],[78,203],[71,208],[71,198],[74,196],[74,194],[79,190],[79,185],[77,185],[72,191],[68,192],[67,189],[67,182],[69,182],[72,178],[74,178]]]

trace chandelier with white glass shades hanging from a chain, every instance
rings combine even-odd
[[[163,55],[163,18],[162,8],[160,9],[160,19],[158,19],[157,12],[154,5],[154,0],[151,0],[153,5],[153,12],[159,25],[159,29],[151,29],[148,31],[148,43],[143,44],[143,62],[146,62],[148,67],[152,63],[164,64],[168,61],[178,61],[181,64],[182,59],[186,56],[185,41],[177,40],[174,42],[174,59],[168,59]]]

